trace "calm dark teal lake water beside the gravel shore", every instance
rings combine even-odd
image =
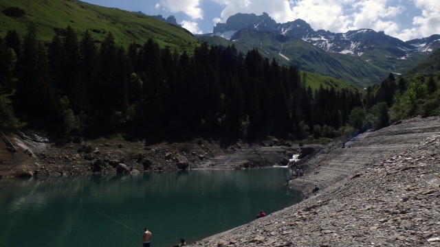
[[[300,202],[288,169],[192,170],[0,180],[0,246],[187,243]]]

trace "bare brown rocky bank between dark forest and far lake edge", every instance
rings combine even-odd
[[[41,134],[0,135],[0,178],[267,167],[281,165],[287,154],[300,150],[298,144],[272,138],[258,143],[196,139],[147,144],[115,138],[54,141]]]

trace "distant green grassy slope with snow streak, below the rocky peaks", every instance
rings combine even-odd
[[[271,32],[240,30],[231,40],[220,37],[198,36],[199,40],[216,45],[234,44],[246,53],[257,48],[263,56],[275,58],[280,64],[294,65],[303,71],[331,76],[361,87],[380,83],[389,71],[369,64],[359,57],[331,54],[298,38]]]

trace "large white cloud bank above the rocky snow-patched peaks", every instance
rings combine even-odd
[[[188,1],[188,0],[187,0]],[[200,0],[222,6],[216,23],[225,23],[236,13],[266,12],[276,22],[303,19],[314,30],[347,32],[363,28],[384,31],[401,40],[440,34],[440,8],[434,0]],[[408,27],[404,18],[418,12]],[[406,25],[404,25],[406,23]]]

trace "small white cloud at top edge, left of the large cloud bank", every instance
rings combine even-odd
[[[159,0],[156,8],[164,8],[172,13],[184,12],[192,19],[203,19],[203,10],[199,8],[201,0]]]

